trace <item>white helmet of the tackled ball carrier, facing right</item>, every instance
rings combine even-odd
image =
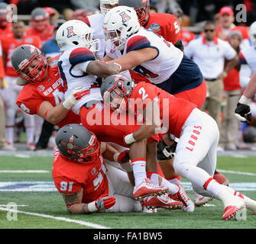
[[[99,39],[92,39],[93,32],[94,30],[83,21],[66,21],[59,27],[56,34],[60,52],[72,47],[86,47],[92,52],[99,51]]]

